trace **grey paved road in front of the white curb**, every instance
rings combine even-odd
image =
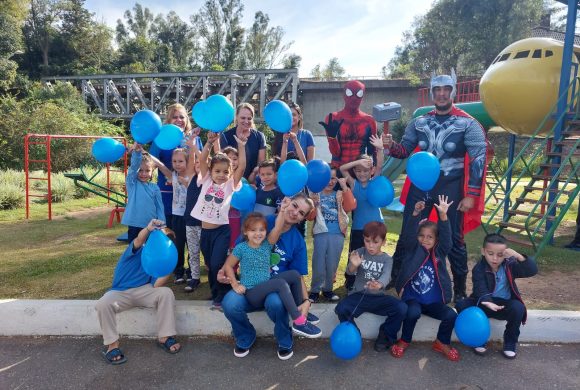
[[[460,346],[446,361],[430,344],[413,344],[403,359],[365,342],[356,360],[335,358],[328,340],[298,340],[294,356],[276,357],[260,338],[236,358],[230,338],[191,338],[169,355],[153,340],[124,340],[128,362],[109,366],[99,338],[0,337],[0,389],[579,389],[580,345],[523,345],[516,360],[499,345],[479,357]]]

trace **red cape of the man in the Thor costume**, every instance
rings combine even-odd
[[[465,118],[475,119],[471,115],[466,113],[465,111],[460,110],[459,108],[457,108],[455,106],[453,106],[453,108],[451,109],[451,112],[449,114],[455,115],[455,116],[462,116]],[[435,115],[435,110],[429,111],[425,115]],[[484,132],[484,135],[485,135],[485,132]],[[489,145],[489,141],[487,140],[486,135],[485,135],[485,141]],[[418,150],[419,150],[419,148],[417,147],[414,150],[414,152],[417,152]],[[480,194],[477,197],[472,196],[472,198],[474,198],[474,200],[475,200],[473,208],[471,210],[469,210],[468,212],[463,213],[463,234],[467,234],[470,231],[477,229],[477,227],[479,225],[481,225],[481,216],[483,215],[483,212],[485,210],[485,178],[487,175],[487,164],[489,163],[489,161],[493,157],[493,149],[488,147],[487,150],[491,151],[491,154],[486,153],[486,156],[485,156],[486,161],[485,161],[485,164],[483,166],[483,178],[482,178],[482,182],[481,182]],[[468,154],[465,154],[463,177],[464,177],[464,179],[463,179],[463,193],[467,194],[467,185],[469,183],[469,155]],[[401,190],[400,201],[402,204],[406,203],[407,194],[409,193],[410,188],[411,188],[411,180],[409,180],[409,177],[407,176],[407,179],[405,179],[405,184],[403,184],[403,189]],[[437,221],[437,209],[435,209],[435,207],[433,207],[433,209],[431,210],[431,214],[429,214],[429,220],[430,221]]]

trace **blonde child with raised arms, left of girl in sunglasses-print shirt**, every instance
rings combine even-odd
[[[173,170],[168,169],[161,161],[156,160],[159,170],[165,177],[171,177],[173,187],[173,200],[171,203],[171,228],[175,232],[175,246],[177,247],[177,265],[174,271],[174,283],[181,284],[185,280],[191,280],[191,268],[185,269],[185,246],[187,244],[187,232],[185,228],[185,208],[187,201],[187,187],[189,181],[195,175],[195,139],[189,138],[185,148],[173,150],[171,165]],[[195,147],[197,150],[197,147]]]

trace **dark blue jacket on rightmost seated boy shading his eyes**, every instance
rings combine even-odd
[[[517,261],[513,257],[509,257],[504,260],[505,264],[505,274],[510,286],[510,292],[512,295],[511,299],[517,299],[520,301],[524,307],[524,301],[518,286],[516,285],[516,278],[529,278],[538,273],[538,266],[533,257],[525,256],[524,261]],[[492,294],[495,290],[495,274],[493,270],[482,256],[481,260],[473,267],[471,270],[471,280],[473,281],[473,293],[472,298],[480,299],[481,302],[490,302],[492,300]],[[522,323],[526,323],[527,310],[524,313],[524,318]]]

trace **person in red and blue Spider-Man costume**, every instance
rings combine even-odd
[[[377,124],[372,116],[360,110],[364,93],[365,85],[360,81],[347,82],[344,85],[344,108],[328,114],[324,122],[318,122],[326,131],[333,168],[355,161],[361,154],[368,154],[373,159],[376,157],[369,138],[377,135]]]

